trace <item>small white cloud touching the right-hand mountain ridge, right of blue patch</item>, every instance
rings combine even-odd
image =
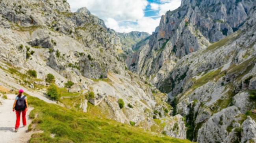
[[[171,11],[175,10],[181,4],[181,0],[161,0],[161,1],[164,3],[160,5],[160,11],[159,11],[160,15],[165,14],[169,10]]]

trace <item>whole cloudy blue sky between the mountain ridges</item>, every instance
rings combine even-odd
[[[72,12],[87,7],[117,32],[143,31],[152,34],[161,15],[174,10],[181,0],[67,0]]]

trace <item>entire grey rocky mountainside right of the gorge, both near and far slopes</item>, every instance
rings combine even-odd
[[[188,139],[256,142],[255,19],[255,1],[183,0],[126,61],[168,93]]]

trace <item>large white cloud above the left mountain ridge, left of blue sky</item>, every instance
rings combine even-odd
[[[135,21],[144,16],[147,0],[68,0],[71,10],[87,7],[91,13],[120,21]]]

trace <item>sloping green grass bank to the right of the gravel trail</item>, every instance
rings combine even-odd
[[[144,130],[109,119],[99,119],[76,110],[45,103],[28,96],[33,119],[30,143],[191,143],[188,140],[156,136]],[[37,115],[37,116],[36,116]],[[55,134],[54,138],[50,134]]]

